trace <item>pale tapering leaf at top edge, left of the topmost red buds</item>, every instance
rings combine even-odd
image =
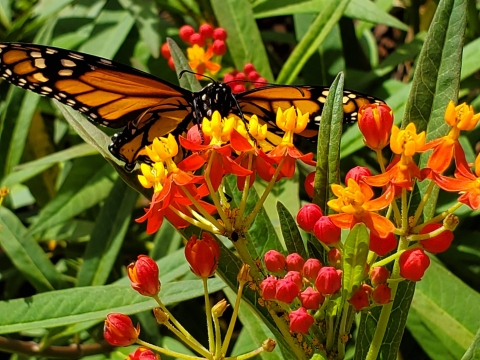
[[[140,37],[147,44],[150,53],[158,58],[160,53],[160,18],[159,9],[154,0],[119,0],[122,7],[130,12],[140,33]]]

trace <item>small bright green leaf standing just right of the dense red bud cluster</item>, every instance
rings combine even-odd
[[[347,236],[342,258],[343,296],[350,298],[365,277],[370,235],[363,223],[356,224]]]

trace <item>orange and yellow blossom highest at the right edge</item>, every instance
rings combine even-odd
[[[458,142],[460,130],[473,130],[479,120],[480,114],[474,115],[472,106],[465,103],[455,106],[453,101],[450,101],[445,110],[445,121],[452,128],[446,136],[425,145],[424,151],[434,149],[427,167],[436,173],[442,173],[449,167],[454,157],[462,156],[463,149]]]

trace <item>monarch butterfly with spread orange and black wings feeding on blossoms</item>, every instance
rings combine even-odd
[[[318,124],[328,87],[269,85],[233,94],[226,84],[212,82],[198,92],[111,60],[36,44],[0,43],[0,77],[40,95],[56,99],[110,128],[125,127],[112,137],[110,152],[133,170],[147,161],[145,145],[168,133],[179,135],[213,111],[242,119],[256,114],[273,130],[270,142],[279,141],[275,127],[278,108],[293,106],[310,113],[300,136],[316,142]],[[369,95],[344,91],[344,121],[356,120],[367,103],[382,103]],[[275,135],[276,133],[276,135]]]

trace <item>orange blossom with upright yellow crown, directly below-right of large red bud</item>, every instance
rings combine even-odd
[[[393,126],[390,148],[397,154],[387,171],[383,174],[365,177],[363,180],[371,186],[385,186],[388,183],[412,190],[414,178],[422,179],[420,169],[413,156],[425,146],[425,131],[417,134],[414,123],[403,130]]]

